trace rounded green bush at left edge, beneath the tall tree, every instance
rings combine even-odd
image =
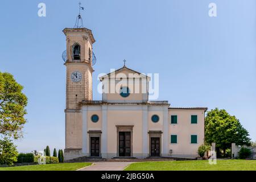
[[[17,161],[18,151],[12,140],[5,137],[0,140],[0,164],[13,165]]]

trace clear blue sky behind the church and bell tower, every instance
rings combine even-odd
[[[46,17],[38,3],[46,3]],[[84,26],[93,31],[97,75],[127,67],[159,73],[159,100],[171,106],[219,107],[236,115],[256,140],[255,0],[84,0]],[[217,17],[208,5],[217,5]],[[64,148],[65,27],[78,1],[1,1],[0,71],[12,73],[28,97],[20,152]]]

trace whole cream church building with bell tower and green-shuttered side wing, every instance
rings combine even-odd
[[[65,28],[63,32],[67,40],[65,160],[196,158],[204,143],[206,107],[177,108],[168,101],[149,101],[150,77],[126,65],[100,77],[104,92],[101,101],[94,101],[92,31]]]

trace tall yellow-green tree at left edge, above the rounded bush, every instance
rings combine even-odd
[[[23,125],[27,122],[27,97],[23,86],[10,73],[0,72],[0,135],[18,139],[22,137]]]

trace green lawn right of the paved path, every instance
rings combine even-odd
[[[217,160],[210,165],[208,160],[187,160],[168,162],[139,162],[130,164],[125,171],[256,171],[256,160]]]

